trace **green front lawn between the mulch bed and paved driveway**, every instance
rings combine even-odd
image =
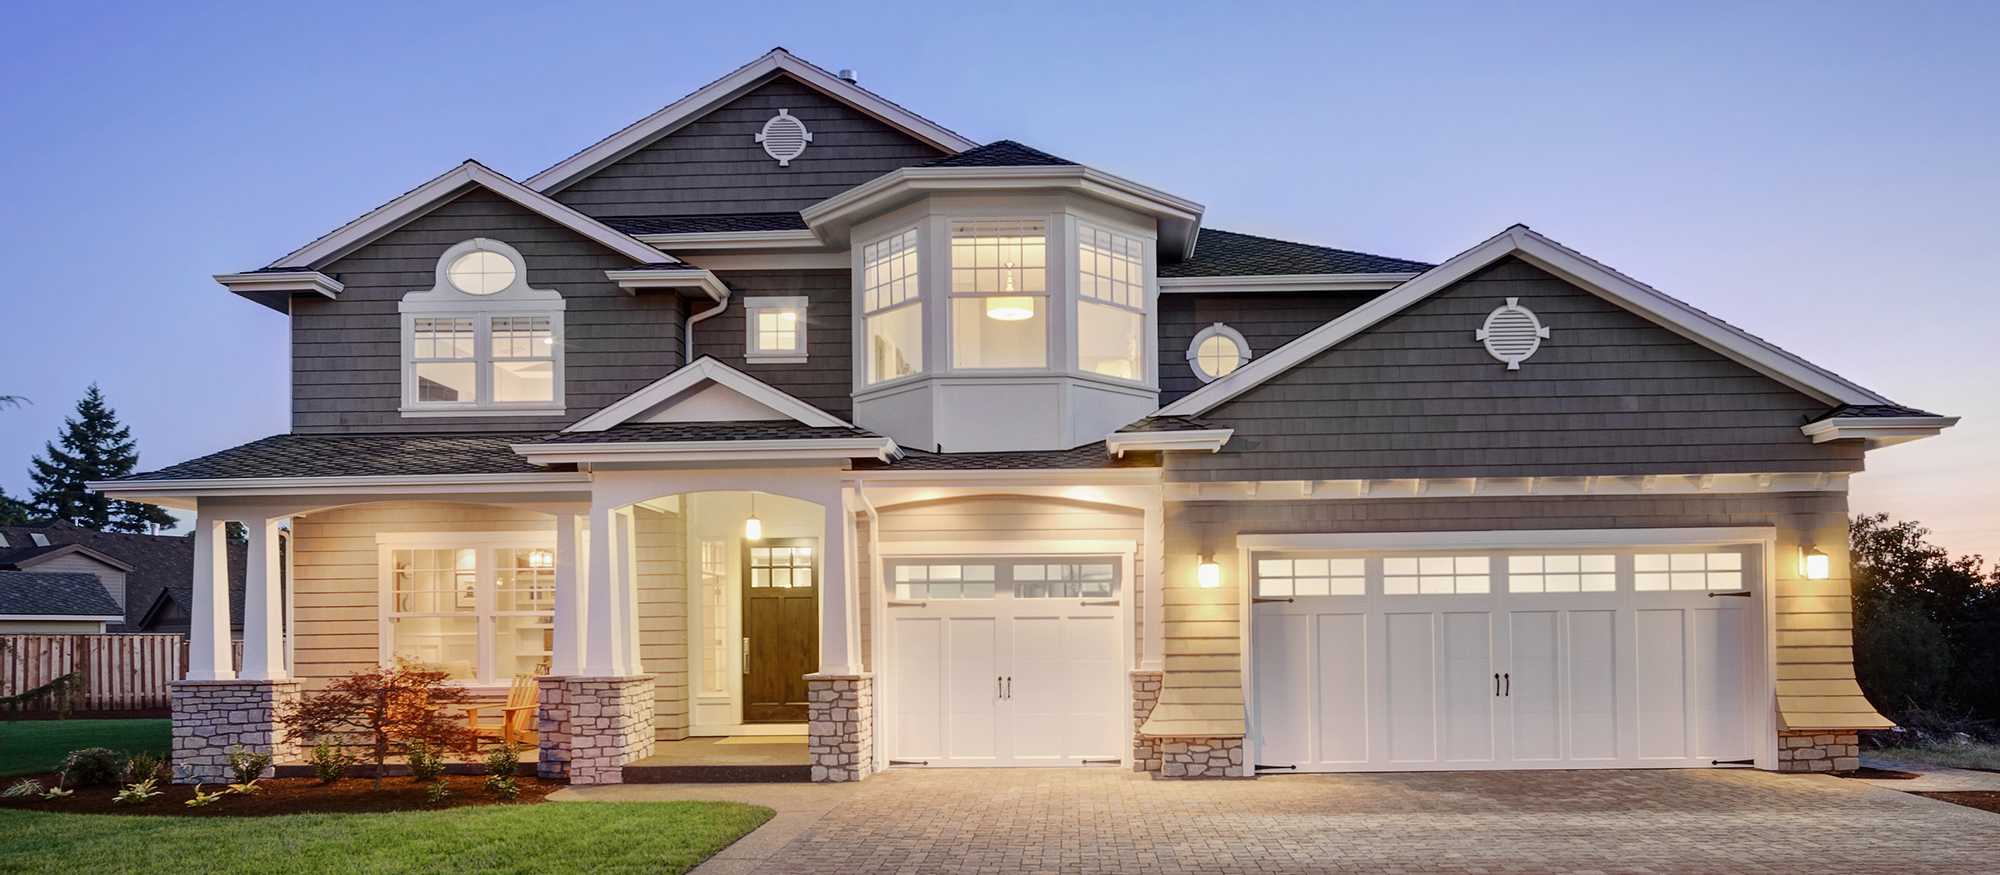
[[[0,873],[684,873],[770,817],[706,801],[242,819],[0,811]]]

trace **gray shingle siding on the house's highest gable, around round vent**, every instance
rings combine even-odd
[[[780,108],[812,132],[806,154],[786,168],[756,142]],[[860,110],[778,76],[556,192],[556,200],[600,218],[796,212],[940,156],[944,152]]]

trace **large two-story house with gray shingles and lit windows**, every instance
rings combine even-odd
[[[1888,725],[1846,487],[1952,418],[1524,226],[1428,264],[1116,170],[772,50],[218,276],[286,316],[292,430],[94,483],[198,515],[184,775],[388,659],[542,675],[576,783],[754,735],[822,781],[1834,769]]]

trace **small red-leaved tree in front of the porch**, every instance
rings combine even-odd
[[[306,695],[282,711],[278,721],[310,739],[366,735],[376,763],[374,787],[382,789],[388,757],[406,751],[410,743],[476,751],[476,735],[464,715],[444,711],[446,705],[470,701],[472,693],[446,683],[448,677],[444,671],[398,659],[396,665],[356,671]]]

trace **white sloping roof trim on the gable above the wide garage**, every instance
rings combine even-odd
[[[1182,400],[1160,408],[1160,416],[1200,416],[1210,412],[1216,406],[1292,370],[1334,344],[1340,344],[1342,340],[1348,340],[1374,324],[1400,314],[1412,304],[1450,288],[1458,280],[1464,280],[1472,272],[1506,256],[1520,256],[1522,260],[1558,274],[1568,282],[1584,286],[1612,304],[1624,306],[1626,310],[1632,310],[1638,316],[1672,330],[1674,334],[1702,344],[1826,404],[1890,404],[1874,392],[1816,368],[1798,356],[1766,344],[1764,340],[1752,338],[1750,334],[1744,334],[1714,316],[1674,300],[1652,286],[1592,262],[1576,250],[1564,248],[1562,244],[1536,234],[1528,226],[1512,226],[1486,242],[1452,256],[1448,262],[1426,270],[1418,278],[1396,286],[1394,292],[1374,298],[1346,316],[1314,328],[1298,340],[1250,362],[1236,374],[1216,380]]]

